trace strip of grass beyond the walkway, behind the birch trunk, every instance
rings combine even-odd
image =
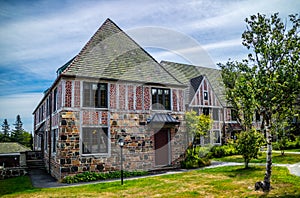
[[[224,162],[244,162],[244,159],[241,155],[232,155],[222,158],[214,158],[215,161],[224,161]],[[250,163],[265,163],[266,162],[266,153],[260,153],[257,159],[252,159]],[[272,153],[272,162],[274,164],[296,164],[300,162],[299,154],[289,154],[285,153],[283,156],[280,153]]]

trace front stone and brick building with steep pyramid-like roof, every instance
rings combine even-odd
[[[178,166],[188,145],[185,88],[107,19],[57,70],[33,112],[34,149],[57,179],[83,171]]]

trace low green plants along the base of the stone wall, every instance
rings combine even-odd
[[[137,177],[147,175],[147,171],[123,171],[123,177]],[[97,180],[116,179],[121,177],[121,171],[112,172],[83,172],[73,176],[66,176],[62,179],[62,183],[78,183],[78,182],[89,182]]]

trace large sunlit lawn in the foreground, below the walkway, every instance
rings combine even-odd
[[[185,173],[107,182],[77,187],[19,190],[4,197],[299,197],[300,177],[283,167],[273,167],[269,194],[254,191],[264,176],[264,167],[219,167]],[[18,180],[18,179],[17,179]],[[8,180],[5,180],[8,181]],[[26,182],[24,182],[24,185]],[[28,183],[27,183],[28,184]],[[28,186],[27,186],[28,187]],[[10,188],[9,185],[6,188]],[[12,192],[8,190],[7,192]],[[2,194],[3,195],[3,194]]]

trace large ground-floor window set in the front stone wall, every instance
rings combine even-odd
[[[83,154],[107,154],[108,133],[107,128],[86,127],[82,129]]]

